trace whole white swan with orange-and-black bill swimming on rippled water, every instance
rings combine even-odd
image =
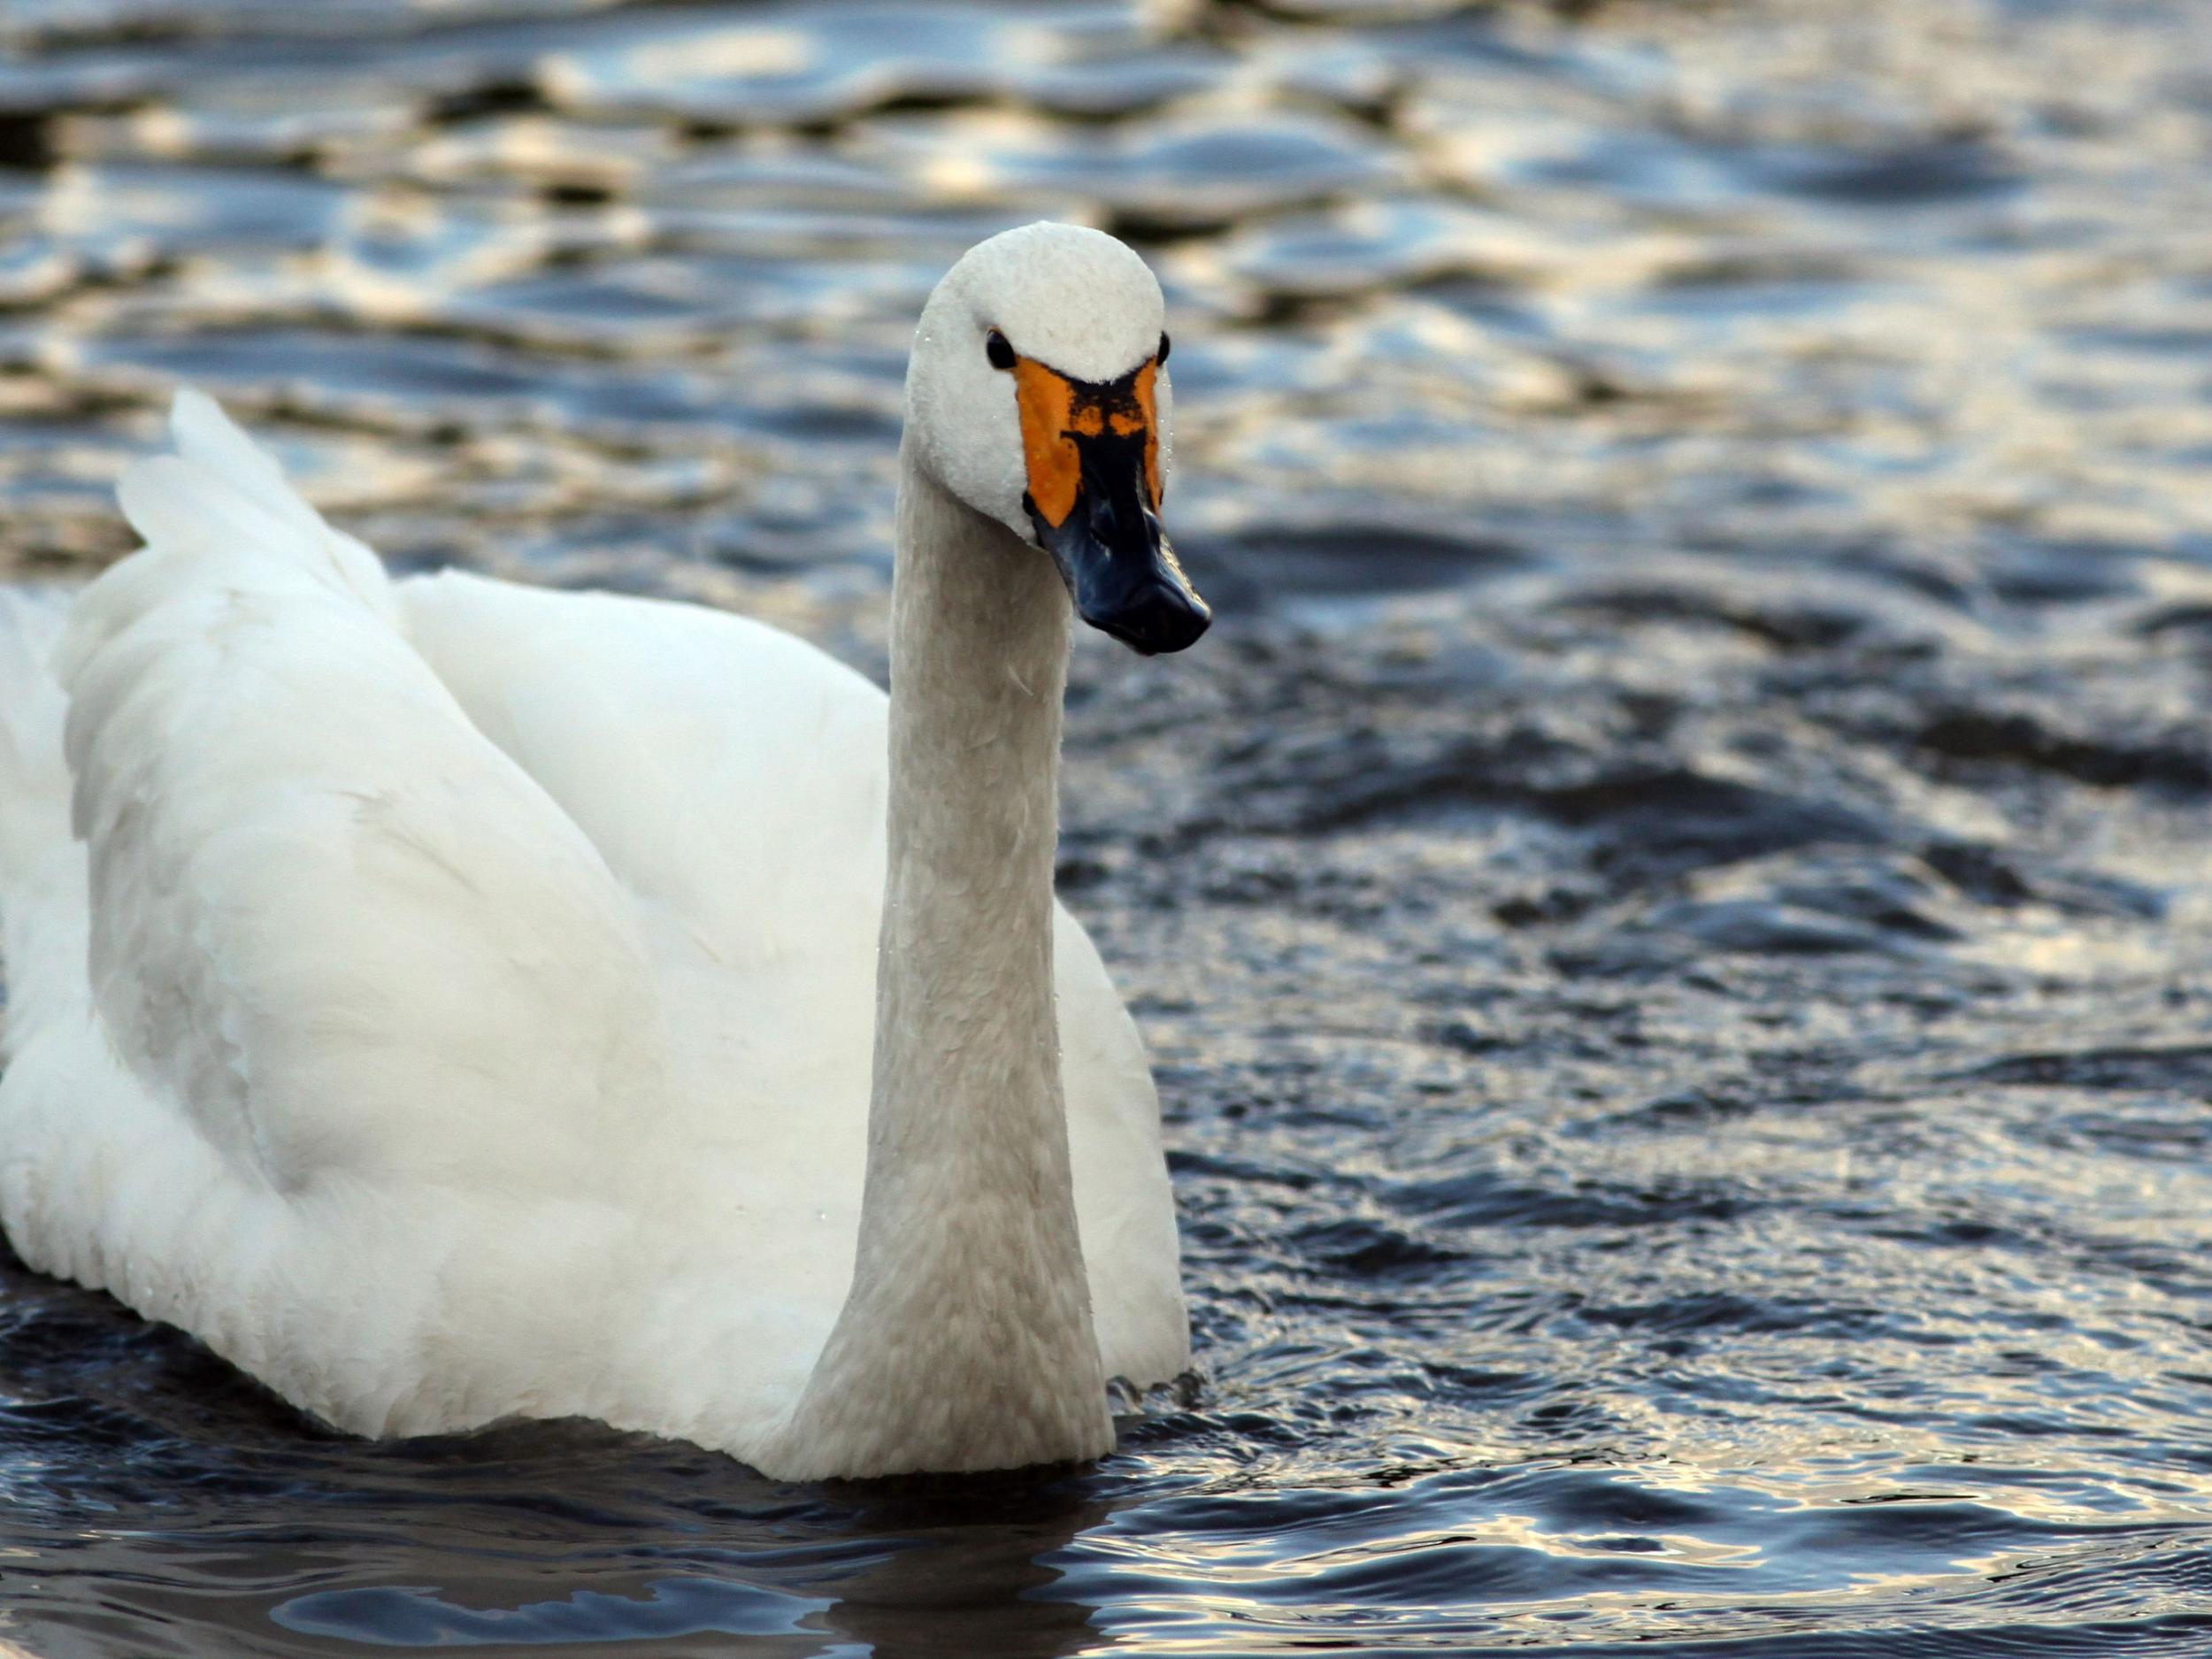
[[[783,1480],[1113,1449],[1190,1360],[1159,1106],[1053,898],[1071,615],[1159,531],[1161,292],[931,292],[891,695],[743,617],[392,580],[212,400],[0,604],[0,1225],[361,1436],[586,1416]]]

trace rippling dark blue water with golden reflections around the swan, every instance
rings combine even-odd
[[[1223,613],[1062,885],[1206,1378],[1097,1469],[365,1447],[7,1272],[40,1655],[2212,1652],[2188,0],[7,0],[24,575],[192,378],[403,564],[880,672],[911,316],[1170,290]]]

